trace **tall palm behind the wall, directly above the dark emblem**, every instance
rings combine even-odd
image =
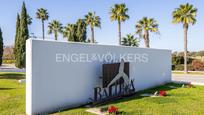
[[[129,19],[127,14],[128,8],[125,4],[115,4],[114,7],[111,7],[111,21],[118,21],[118,35],[119,35],[119,45],[121,45],[121,22]]]

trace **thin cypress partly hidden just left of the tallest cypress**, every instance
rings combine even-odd
[[[15,44],[14,44],[14,56],[15,56],[15,66],[19,67],[20,61],[18,57],[18,49],[19,49],[19,32],[20,32],[20,16],[17,14],[17,19],[16,19],[16,35],[15,35]]]

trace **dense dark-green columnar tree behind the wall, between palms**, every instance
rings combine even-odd
[[[86,23],[84,19],[78,19],[76,22],[77,30],[76,36],[78,42],[86,41]]]

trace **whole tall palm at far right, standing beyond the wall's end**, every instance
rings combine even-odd
[[[173,13],[173,23],[182,23],[184,29],[184,72],[188,73],[187,68],[187,34],[189,25],[196,23],[197,8],[194,8],[191,4],[182,4],[179,8],[176,8]]]

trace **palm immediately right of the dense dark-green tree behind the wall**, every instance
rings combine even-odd
[[[86,24],[90,25],[91,28],[91,42],[94,43],[94,27],[101,28],[101,19],[99,16],[95,15],[95,12],[89,12],[85,15]]]

